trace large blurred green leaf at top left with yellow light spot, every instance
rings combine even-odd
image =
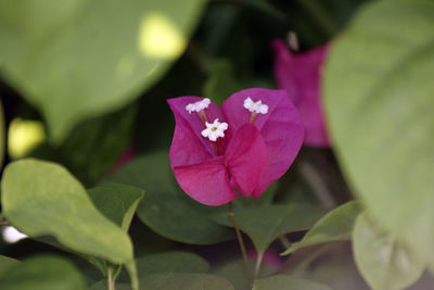
[[[184,50],[206,0],[0,1],[0,65],[54,141],[131,101]]]

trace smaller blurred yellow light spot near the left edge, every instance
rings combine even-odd
[[[8,152],[12,159],[23,157],[47,139],[39,121],[14,118],[8,131]]]

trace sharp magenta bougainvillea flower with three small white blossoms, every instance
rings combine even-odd
[[[281,177],[303,142],[298,112],[285,90],[246,89],[220,109],[209,99],[167,101],[176,127],[170,165],[187,194],[206,205],[257,199]]]

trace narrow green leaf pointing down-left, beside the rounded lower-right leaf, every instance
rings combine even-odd
[[[354,222],[359,212],[358,201],[350,201],[334,209],[319,219],[315,226],[306,232],[303,240],[291,244],[282,255],[288,255],[298,249],[318,243],[349,240],[352,238]]]

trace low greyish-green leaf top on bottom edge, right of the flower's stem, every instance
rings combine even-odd
[[[255,281],[252,290],[286,290],[286,289],[332,290],[328,286],[289,275],[275,275],[268,278],[258,279]]]

